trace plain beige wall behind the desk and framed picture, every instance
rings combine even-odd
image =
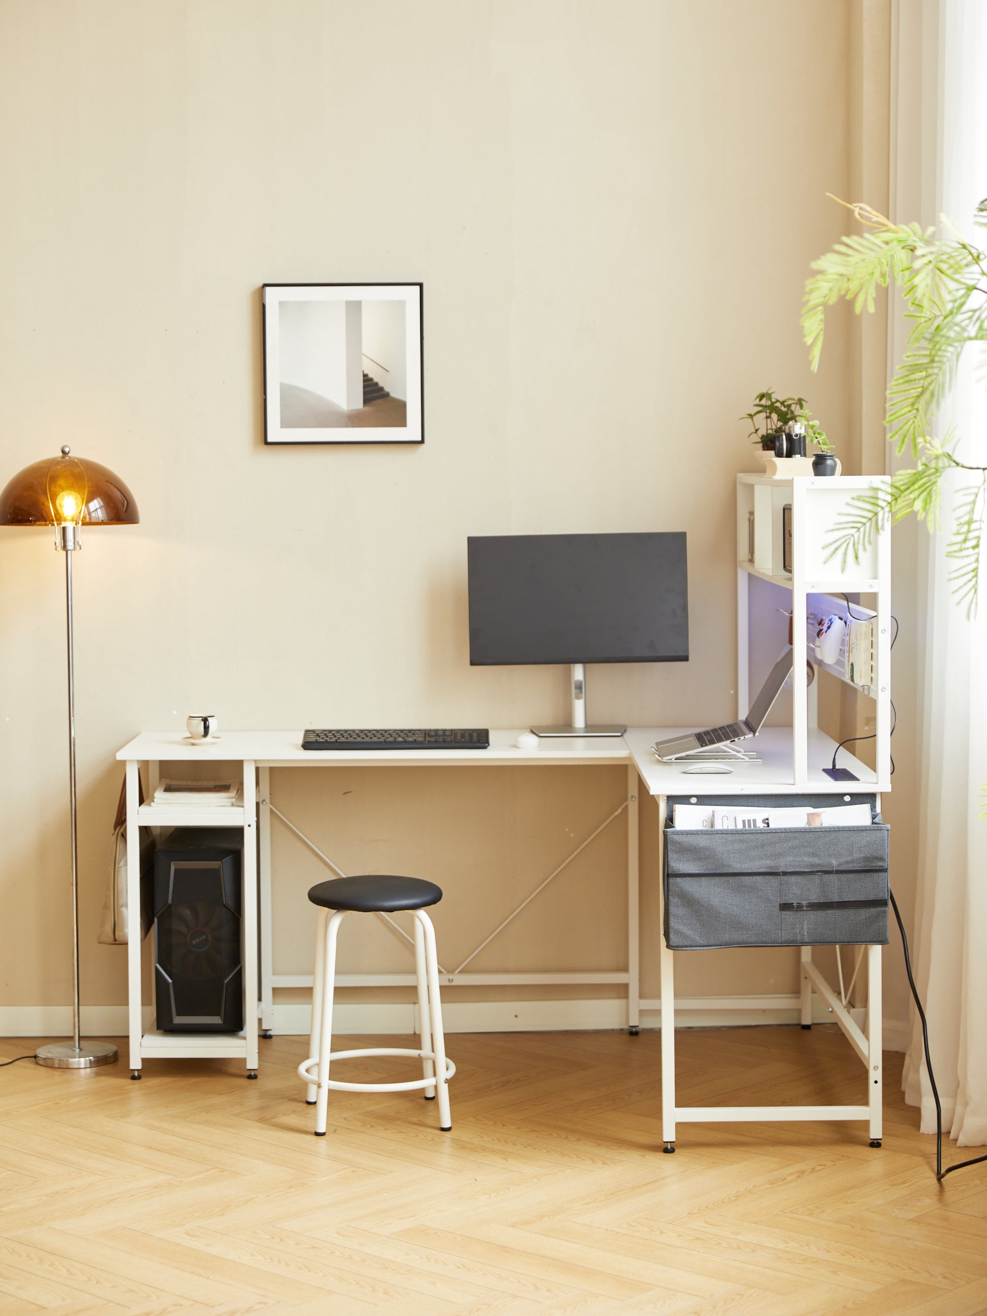
[[[142,516],[86,533],[76,566],[84,1000],[125,1000],[124,951],[95,933],[113,753],[137,730],[207,705],[242,728],[565,716],[563,670],[470,669],[470,533],[687,530],[692,659],[591,669],[591,716],[733,713],[733,476],[754,466],[734,417],[772,386],[848,455],[857,424],[849,317],[817,378],[797,329],[844,229],[824,193],[851,182],[855,14],[0,3],[0,478],[68,441]],[[425,286],[424,447],[265,449],[259,284],[361,279]],[[1,532],[0,1005],[70,995],[61,570],[43,533]],[[622,790],[571,776],[276,791],[343,866],[440,876],[455,959]],[[276,848],[278,969],[301,971],[321,874]],[[475,967],[605,967],[624,854],[619,825]],[[363,936],[350,967],[404,965]],[[788,951],[682,959],[688,994],[795,984]]]

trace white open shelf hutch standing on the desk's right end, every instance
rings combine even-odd
[[[792,666],[792,782],[808,784],[808,732],[817,725],[816,687],[809,687],[805,658],[816,670],[828,671],[875,704],[875,763],[873,780],[861,784],[871,791],[891,788],[891,534],[878,528],[861,554],[841,565],[832,554],[840,520],[853,511],[854,497],[887,486],[886,476],[832,475],[772,479],[766,475],[737,476],[737,716],[742,717],[767,675],[751,671],[754,628],[776,625],[779,609],[791,612],[795,662]],[[791,571],[784,567],[784,509],[791,508]],[[775,590],[758,595],[751,607],[751,578]],[[783,592],[782,592],[783,591]],[[876,608],[858,603],[848,607],[842,594],[874,595]],[[770,603],[769,603],[770,599]],[[767,604],[767,607],[765,607]],[[873,684],[855,686],[845,675],[842,655],[834,663],[815,653],[815,617],[874,619],[871,657]],[[799,655],[803,661],[799,662]],[[776,657],[776,654],[774,655]],[[837,761],[837,766],[840,766]]]

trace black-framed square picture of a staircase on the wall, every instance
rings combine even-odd
[[[421,443],[420,283],[263,286],[265,443]]]

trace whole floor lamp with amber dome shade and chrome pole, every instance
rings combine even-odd
[[[75,792],[75,670],[72,655],[72,554],[82,547],[82,526],[136,525],[137,504],[124,482],[99,462],[62,455],[34,462],[0,494],[0,525],[54,528],[55,547],[64,553],[66,633],[68,650],[68,819],[72,878],[72,1041],[38,1048],[34,1059],[53,1069],[92,1069],[112,1065],[111,1042],[86,1042],[79,1036],[79,834]]]

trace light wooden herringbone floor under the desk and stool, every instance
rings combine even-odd
[[[451,1133],[416,1094],[333,1094],[313,1137],[296,1037],[262,1042],[257,1083],[220,1061],[141,1083],[0,1070],[0,1312],[987,1311],[987,1167],[936,1184],[899,1055],[882,1150],[862,1125],[711,1124],[662,1155],[657,1033],[449,1042]],[[832,1026],[690,1030],[678,1051],[687,1103],[863,1086]]]

